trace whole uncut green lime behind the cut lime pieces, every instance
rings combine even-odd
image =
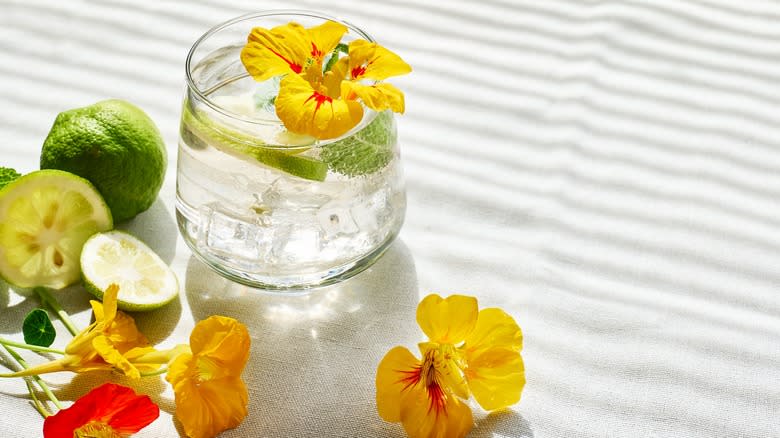
[[[115,222],[151,207],[167,165],[152,119],[117,99],[60,113],[41,151],[41,169],[65,170],[92,182]]]

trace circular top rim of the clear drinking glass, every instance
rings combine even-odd
[[[248,119],[246,117],[241,116],[240,114],[236,114],[232,111],[228,111],[225,108],[222,108],[220,105],[214,103],[206,94],[204,94],[200,90],[200,88],[195,85],[195,81],[192,78],[192,58],[195,54],[195,51],[201,46],[202,43],[204,43],[211,36],[217,34],[218,32],[230,26],[233,26],[241,22],[250,21],[250,20],[263,18],[263,17],[275,17],[275,16],[312,17],[312,18],[320,18],[328,21],[334,21],[336,23],[340,23],[343,24],[344,26],[347,26],[349,30],[354,31],[359,37],[362,37],[366,41],[371,43],[375,42],[374,38],[371,37],[371,35],[369,35],[368,33],[366,33],[363,29],[355,26],[354,24],[346,20],[336,18],[332,15],[324,14],[321,12],[310,11],[305,9],[269,9],[266,11],[250,12],[248,14],[240,15],[238,17],[232,18],[227,21],[223,21],[222,23],[219,23],[211,27],[211,29],[207,30],[203,35],[200,36],[200,38],[195,40],[195,42],[192,44],[192,47],[190,48],[190,51],[187,53],[187,59],[184,64],[187,88],[191,90],[193,93],[195,93],[198,100],[208,105],[212,110],[231,119],[239,120],[243,123],[251,123],[257,125],[264,125],[264,126],[268,126],[268,125],[284,126],[284,123],[282,123],[280,120]],[[249,76],[249,73],[247,73],[247,76]],[[376,112],[369,111],[367,114],[364,114],[363,120],[361,121],[361,123],[355,126],[355,128],[357,128],[360,125],[363,125],[363,122],[366,121],[366,116],[371,115],[371,113],[376,113]]]

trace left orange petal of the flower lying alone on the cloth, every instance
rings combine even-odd
[[[408,349],[395,347],[385,354],[376,372],[376,407],[383,420],[401,421],[401,397],[419,378],[420,361]]]

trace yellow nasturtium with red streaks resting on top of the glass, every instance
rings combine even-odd
[[[325,57],[337,56],[333,51],[346,32],[346,26],[327,21],[310,29],[294,22],[270,30],[256,27],[249,34],[241,61],[256,81],[284,76],[275,106],[289,131],[339,137],[363,119],[357,99],[375,111],[404,111],[403,93],[377,81],[412,69],[376,43],[352,41],[347,56],[323,71]]]

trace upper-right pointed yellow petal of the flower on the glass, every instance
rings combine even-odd
[[[400,56],[377,43],[354,40],[349,43],[349,73],[353,80],[383,80],[412,71]]]

